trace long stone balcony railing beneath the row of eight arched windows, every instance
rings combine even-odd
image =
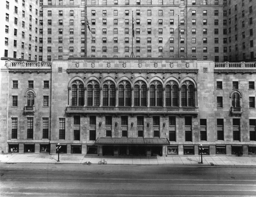
[[[195,114],[196,107],[78,107],[68,106],[66,113],[178,113]]]

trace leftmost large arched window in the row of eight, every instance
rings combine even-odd
[[[72,91],[72,106],[83,106],[84,105],[84,85],[80,84],[79,81],[75,81],[75,84],[71,86]]]

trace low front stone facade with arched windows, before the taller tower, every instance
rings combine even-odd
[[[202,144],[206,155],[253,155],[255,73],[193,58],[5,60],[1,152],[54,154],[60,143],[67,154],[171,156]]]

